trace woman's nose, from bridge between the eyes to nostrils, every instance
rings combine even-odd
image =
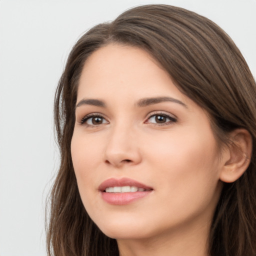
[[[125,125],[116,125],[111,129],[104,153],[105,163],[118,168],[138,164],[141,152],[137,136],[134,129]]]

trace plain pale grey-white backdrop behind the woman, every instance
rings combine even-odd
[[[45,198],[58,166],[53,97],[89,27],[147,3],[181,6],[220,25],[256,76],[256,0],[0,0],[0,256],[44,256]]]

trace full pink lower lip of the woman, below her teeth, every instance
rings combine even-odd
[[[101,192],[101,195],[103,200],[110,204],[123,205],[143,198],[144,196],[148,195],[151,191],[152,190],[122,193]]]

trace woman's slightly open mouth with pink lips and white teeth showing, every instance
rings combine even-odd
[[[130,178],[109,178],[99,185],[98,190],[107,203],[123,205],[149,195],[153,188]]]

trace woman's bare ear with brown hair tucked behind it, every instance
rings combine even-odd
[[[231,143],[223,152],[223,167],[219,179],[224,182],[233,182],[247,169],[252,153],[252,138],[243,128],[230,133]]]

